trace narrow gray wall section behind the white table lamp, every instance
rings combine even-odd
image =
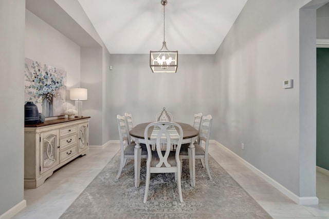
[[[88,100],[83,101],[83,112],[90,116],[89,145],[102,146],[110,140],[110,114],[107,96],[112,88],[109,77],[110,55],[106,48],[81,48],[81,87],[88,89]],[[107,83],[108,82],[108,83]]]

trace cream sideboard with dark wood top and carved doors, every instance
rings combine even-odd
[[[37,188],[74,158],[89,152],[90,117],[58,118],[24,128],[24,188]]]

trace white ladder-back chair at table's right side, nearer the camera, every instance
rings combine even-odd
[[[208,176],[210,180],[212,180],[212,177],[210,175],[209,165],[208,165],[208,148],[209,148],[209,136],[210,136],[210,130],[211,130],[211,124],[212,124],[212,116],[206,115],[202,117],[202,121],[200,123],[200,130],[199,130],[199,142],[194,143],[195,147],[195,159],[200,159],[201,164],[203,168],[206,167]],[[180,149],[180,159],[188,159],[188,148],[189,146],[187,144],[184,144],[181,146]],[[192,165],[195,166],[195,161]]]

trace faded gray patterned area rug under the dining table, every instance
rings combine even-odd
[[[134,161],[128,160],[119,180],[118,153],[77,197],[60,218],[272,218],[210,156],[207,170],[196,160],[196,185],[189,184],[188,160],[182,167],[182,196],[179,202],[173,173],[151,174],[148,202],[145,191],[145,160],[141,164],[141,182],[134,186]]]

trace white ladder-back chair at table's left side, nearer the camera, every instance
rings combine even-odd
[[[119,138],[120,138],[120,167],[119,172],[116,177],[116,180],[121,175],[121,171],[125,164],[127,163],[128,159],[134,159],[134,150],[135,150],[135,143],[130,143],[129,141],[129,131],[126,126],[125,116],[117,115],[117,124],[118,124],[118,130],[119,130]],[[148,157],[148,151],[145,145],[141,145],[141,158],[147,158]],[[139,165],[140,168],[140,165]],[[140,171],[137,170],[137,171]]]

